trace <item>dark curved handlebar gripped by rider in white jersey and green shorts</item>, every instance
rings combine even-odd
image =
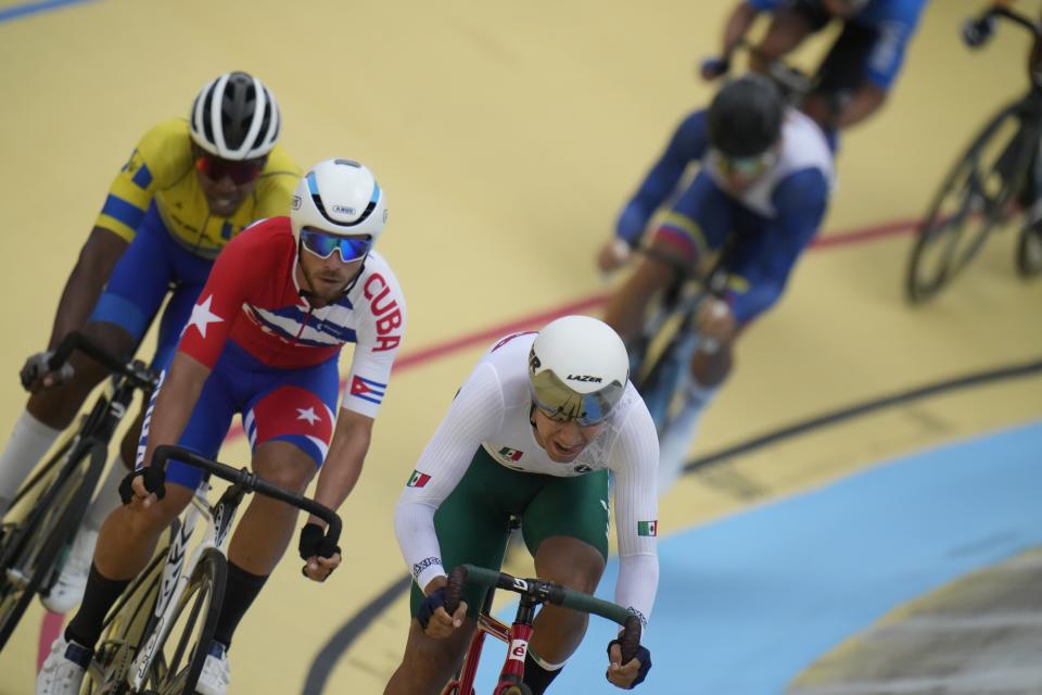
[[[636,655],[637,647],[640,646],[640,619],[619,604],[542,579],[518,579],[506,572],[474,565],[460,565],[449,573],[445,590],[445,610],[449,615],[456,612],[459,607],[463,586],[468,583],[505,589],[555,606],[593,614],[619,623],[623,627],[622,634],[619,636],[622,664],[628,664]]]

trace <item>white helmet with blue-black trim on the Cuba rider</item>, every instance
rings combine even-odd
[[[387,197],[364,164],[326,160],[296,185],[290,204],[293,236],[309,227],[339,237],[368,235],[376,242],[387,222]]]

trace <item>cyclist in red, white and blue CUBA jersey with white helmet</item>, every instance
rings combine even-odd
[[[328,160],[301,179],[289,217],[258,222],[221,251],[149,406],[137,470],[120,489],[125,506],[102,527],[84,602],[54,642],[37,693],[78,692],[105,614],[194,494],[201,473],[177,462],[165,471],[151,467],[156,446],[176,443],[213,457],[240,413],[260,478],[303,492],[320,468],[315,500],[335,509],[346,498],[405,330],[398,282],[372,250],[386,211],[368,168]],[[336,414],[345,343],[355,350]],[[237,526],[199,693],[225,693],[232,634],[285,551],[295,518],[294,507],[256,495]],[[317,557],[322,534],[313,518],[300,536],[304,573],[316,581],[340,564],[339,552]]]

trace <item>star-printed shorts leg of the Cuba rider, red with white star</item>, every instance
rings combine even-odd
[[[230,349],[241,352],[234,343]],[[333,435],[340,387],[336,359],[303,369],[271,369],[254,363],[253,380],[255,388],[242,410],[253,451],[265,442],[288,442],[320,467]]]

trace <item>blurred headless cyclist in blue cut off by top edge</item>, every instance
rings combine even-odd
[[[926,0],[741,0],[724,28],[722,59],[702,64],[713,79],[727,71],[732,54],[760,13],[772,18],[750,66],[766,65],[795,50],[833,18],[842,30],[818,66],[802,109],[834,140],[835,131],[860,123],[886,102]]]

